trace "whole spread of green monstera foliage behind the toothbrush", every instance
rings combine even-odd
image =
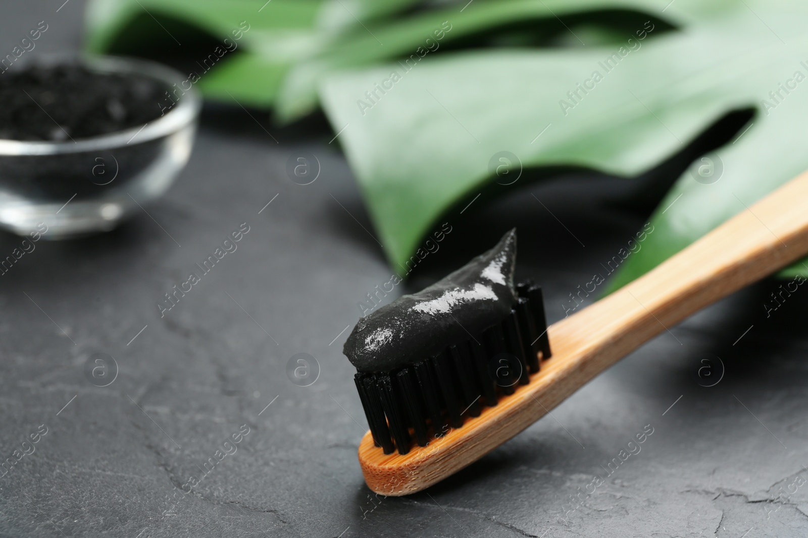
[[[615,289],[808,168],[806,15],[796,0],[90,0],[87,27],[94,52],[204,57],[200,35],[246,21],[198,87],[280,122],[322,106],[396,268],[441,218],[513,188],[503,167],[523,169],[517,186],[570,169],[633,181],[755,111],[675,181]]]

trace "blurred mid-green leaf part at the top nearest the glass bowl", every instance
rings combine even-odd
[[[157,41],[170,47],[162,56],[184,54],[202,60],[213,50],[197,50],[195,38],[229,38],[238,48],[200,77],[200,90],[206,98],[229,102],[236,98],[242,104],[268,107],[275,102],[290,66],[330,39],[328,31],[318,28],[325,3],[91,0],[86,13],[86,46],[90,52],[132,53],[148,51]],[[183,49],[185,40],[191,43],[186,42]]]

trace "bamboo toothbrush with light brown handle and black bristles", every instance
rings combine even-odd
[[[452,420],[452,416],[446,415],[448,400],[445,399],[444,393],[442,400],[444,405],[441,411],[444,415],[433,413],[431,419],[426,421],[427,427],[430,423],[436,423],[435,425],[443,423],[442,431],[436,432],[437,427],[434,428],[426,446],[415,446],[411,449],[402,444],[404,442],[402,439],[393,439],[402,444],[399,453],[390,453],[389,447],[378,446],[378,441],[374,442],[372,432],[367,432],[360,443],[359,460],[368,487],[379,494],[406,495],[440,482],[516,436],[598,373],[655,335],[670,330],[676,323],[710,303],[806,256],[808,173],[802,173],[753,206],[745,206],[739,199],[739,207],[741,211],[738,215],[675,254],[662,265],[599,302],[548,327],[547,334],[553,348],[552,358],[541,357],[546,353],[540,351],[539,358],[543,359],[541,369],[531,369],[532,373],[529,374],[525,371],[520,383],[511,387],[512,394],[499,394],[496,402],[490,402],[494,403],[493,407],[482,409],[478,407],[472,411],[467,409],[461,421]],[[515,240],[514,237],[514,242]],[[496,259],[491,263],[496,265]],[[491,266],[493,265],[488,266],[489,269]],[[457,279],[457,273],[452,273],[450,277]],[[491,282],[499,279],[497,275],[492,278]],[[494,289],[496,286],[492,284],[489,287]],[[469,290],[480,291],[481,297],[485,295],[477,284],[469,287]],[[513,290],[512,284],[511,290]],[[451,293],[454,292],[444,290],[444,295],[440,297],[457,298],[462,295],[458,295],[460,292],[454,295]],[[433,293],[431,297],[437,295]],[[521,302],[521,299],[518,300]],[[418,307],[421,303],[415,304]],[[435,308],[429,311],[427,307],[418,307],[419,312],[427,314],[440,312],[440,302],[432,300],[428,304]],[[453,304],[457,305],[457,301]],[[532,308],[536,311],[535,304]],[[451,314],[451,311],[449,313]],[[354,329],[358,336],[363,334],[359,329],[364,319],[367,318],[360,319],[360,323]],[[463,318],[461,322],[464,320],[465,323],[469,323],[469,318]],[[524,327],[523,324],[523,332]],[[421,327],[419,330],[423,332],[426,329]],[[469,330],[469,336],[472,336],[473,332]],[[388,340],[384,338],[378,342],[374,340],[378,344],[377,350],[384,351],[385,345],[391,342],[396,344],[395,341],[389,340],[394,335],[381,332],[376,336],[379,337],[380,334]],[[356,342],[354,333],[351,333],[351,337]],[[474,340],[478,340],[479,337],[479,333],[477,337],[473,336]],[[473,345],[469,345],[469,348],[473,348]],[[356,350],[349,347],[346,344],[346,354],[351,358],[349,352]],[[530,352],[536,354],[537,350],[534,347]],[[455,386],[456,391],[462,390],[464,374],[460,372],[461,377],[457,377],[457,371],[451,373],[450,370],[440,370],[440,357],[436,356],[433,359],[438,361],[436,364],[439,365],[433,372],[433,375],[437,376],[437,382],[448,382],[449,385]],[[532,357],[528,358],[528,364],[531,359]],[[385,357],[381,357],[381,361],[384,360]],[[360,366],[357,365],[357,368],[361,372]],[[401,364],[391,363],[388,366],[392,367],[389,369],[389,376],[384,377],[385,380],[394,376],[395,370]],[[415,371],[415,366],[412,368]],[[452,375],[453,381],[448,381],[445,375],[441,377],[442,374]],[[363,376],[371,375],[373,374],[360,373],[357,379],[361,380]],[[411,394],[412,391],[418,392],[417,387],[411,386],[411,382],[423,380],[415,377],[415,374],[411,374],[410,377],[409,381],[404,380],[405,383],[397,386],[380,384],[381,394],[386,399],[377,403],[390,404],[395,403],[395,398],[404,398],[406,405],[411,406],[406,409],[402,407],[402,413],[407,409],[412,413],[422,409],[428,415],[428,411],[423,410],[428,402],[426,400],[418,402]],[[428,379],[426,382],[426,388],[429,389]],[[381,415],[381,423],[378,415],[375,415],[375,422],[372,421],[372,413],[382,411],[382,407],[373,407],[374,402],[368,400],[367,392],[363,392],[364,386],[361,381],[357,382],[357,386],[360,388],[360,396],[368,413],[368,422],[372,427],[375,423],[377,430],[379,428],[384,430],[382,433],[387,432],[388,426],[393,431],[394,427],[397,427],[395,421],[401,417],[397,418],[396,412],[390,413],[391,408],[388,405],[385,407],[388,411],[386,421],[384,414]],[[410,392],[405,391],[407,388]],[[482,394],[478,393],[478,398],[481,396],[486,397],[484,391]],[[456,394],[455,398],[457,400],[452,401],[451,405],[464,402],[461,395]],[[397,408],[393,407],[393,411],[395,409]],[[473,414],[477,416],[469,416]],[[447,420],[451,427],[445,424]],[[412,427],[407,428],[406,423],[404,430],[407,432],[402,430],[401,424],[398,424],[398,427],[399,437],[405,436],[406,441],[409,441],[406,433],[416,437],[423,434],[423,432],[419,434]],[[420,429],[423,430],[423,427]],[[436,436],[440,433],[444,435]],[[389,444],[389,439],[385,442]]]

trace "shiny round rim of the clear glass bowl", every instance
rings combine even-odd
[[[126,56],[102,56],[96,54],[50,54],[32,58],[21,65],[84,65],[100,73],[126,73],[137,74],[157,79],[171,85],[180,85],[184,80],[182,73],[176,69],[162,65],[156,61],[143,60]],[[152,119],[149,122],[99,136],[90,136],[79,140],[66,140],[51,142],[47,140],[7,140],[0,139],[0,156],[27,156],[27,155],[58,155],[63,153],[79,153],[103,151],[120,148],[130,144],[137,136],[137,144],[156,140],[170,135],[196,121],[202,107],[199,92],[191,86],[185,90],[179,86],[184,94],[178,99],[165,115]]]

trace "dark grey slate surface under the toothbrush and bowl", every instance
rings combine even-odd
[[[42,19],[50,28],[34,52],[78,47],[83,4],[56,13],[61,4],[0,2],[0,52]],[[272,131],[276,144],[240,109],[217,118],[147,208],[154,220],[37,242],[0,276],[2,458],[48,428],[0,478],[2,536],[805,536],[808,292],[767,319],[770,284],[663,332],[431,490],[372,496],[356,460],[365,426],[354,369],[340,348],[357,302],[391,271],[363,229],[372,231],[333,135]],[[285,173],[304,151],[322,163],[309,186]],[[644,223],[602,207],[613,188],[604,185],[516,184],[472,206],[480,211],[453,219],[395,293],[435,282],[516,226],[516,277],[545,286],[549,321],[559,319],[568,294]],[[238,249],[161,319],[157,302],[245,222]],[[0,238],[2,256],[17,246]],[[311,386],[287,377],[298,352],[318,361]],[[85,375],[94,353],[120,366],[107,387]],[[718,379],[717,356],[726,372],[701,386]],[[705,365],[715,377],[696,376]],[[244,424],[250,433],[225,444]],[[649,424],[641,451],[607,476]],[[232,454],[172,500],[217,451]],[[570,501],[595,474],[604,484]]]

